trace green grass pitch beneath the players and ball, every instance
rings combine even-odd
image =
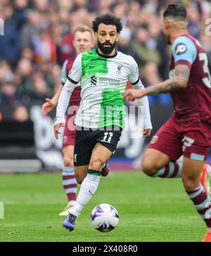
[[[101,178],[71,233],[58,216],[67,202],[60,173],[1,175],[0,202],[5,208],[0,241],[201,241],[206,232],[180,178],[132,171]],[[119,225],[109,233],[96,231],[89,221],[100,203],[120,214]]]

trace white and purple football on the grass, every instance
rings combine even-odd
[[[101,232],[112,231],[119,223],[119,214],[115,207],[101,204],[91,212],[91,225]]]

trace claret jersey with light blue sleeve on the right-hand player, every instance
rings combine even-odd
[[[177,121],[202,120],[211,124],[211,78],[207,54],[191,35],[181,35],[174,41],[170,78],[179,64],[189,66],[191,73],[187,87],[172,92],[174,117]]]

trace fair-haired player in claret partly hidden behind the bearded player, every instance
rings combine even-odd
[[[79,26],[74,33],[73,46],[75,47],[76,54],[80,54],[84,51],[90,51],[94,47],[94,36],[92,30],[86,26]],[[63,68],[61,71],[61,83],[58,86],[58,89],[51,99],[47,98],[46,102],[42,105],[41,111],[44,116],[49,114],[49,112],[58,104],[58,97],[60,91],[65,84],[65,81],[68,77],[68,73],[72,68],[72,63],[75,61],[75,58],[67,59],[63,63]],[[76,194],[77,194],[77,182],[75,180],[75,172],[73,169],[73,152],[75,145],[75,114],[79,107],[81,87],[79,84],[75,87],[75,90],[72,92],[68,114],[65,122],[65,130],[63,133],[63,188],[65,193],[68,196],[68,205],[65,207],[63,212],[60,212],[60,216],[66,216],[70,209],[75,205]]]

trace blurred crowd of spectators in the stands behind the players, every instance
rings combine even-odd
[[[28,109],[51,97],[60,83],[60,68],[75,56],[72,33],[78,25],[91,27],[103,13],[122,20],[117,49],[134,57],[145,86],[168,76],[170,46],[162,34],[162,11],[173,1],[165,0],[1,0],[0,19],[0,111],[24,121]],[[211,35],[205,34],[205,20],[211,18],[207,0],[179,1],[188,11],[188,30],[200,40],[211,63]],[[211,23],[211,21],[210,21]],[[211,33],[211,32],[210,32]],[[169,105],[169,95],[155,95],[150,104]]]

